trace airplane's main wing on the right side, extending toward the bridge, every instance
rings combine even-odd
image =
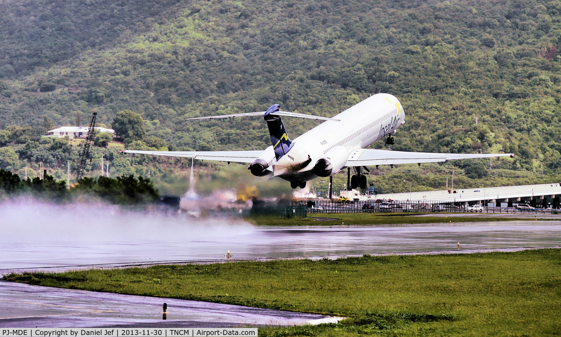
[[[514,156],[512,153],[496,154],[459,154],[459,153],[426,153],[426,152],[402,152],[374,149],[356,149],[349,155],[346,166],[368,166],[368,165],[394,165],[415,163],[436,163],[439,161],[455,159],[492,158]]]

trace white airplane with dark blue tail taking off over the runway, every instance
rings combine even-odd
[[[272,146],[257,151],[137,151],[123,153],[179,156],[203,160],[251,163],[248,169],[254,176],[273,174],[289,181],[292,188],[306,187],[316,177],[330,177],[345,167],[355,167],[351,187],[366,188],[361,168],[366,166],[408,163],[433,163],[453,159],[489,158],[514,154],[449,154],[365,149],[386,137],[386,144],[394,144],[391,132],[405,123],[405,113],[399,100],[390,94],[376,94],[344,110],[333,118],[281,111],[274,104],[264,112],[197,117],[211,119],[263,116],[269,127]],[[284,128],[282,116],[319,119],[325,121],[291,140]]]

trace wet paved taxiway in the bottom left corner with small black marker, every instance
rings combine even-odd
[[[167,313],[162,312],[167,303]],[[243,327],[341,318],[182,299],[96,293],[0,281],[0,327]]]

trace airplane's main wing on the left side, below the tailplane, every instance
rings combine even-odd
[[[202,160],[233,161],[234,163],[253,163],[263,153],[258,151],[138,151],[124,150],[122,153],[149,154],[157,156],[187,157]]]

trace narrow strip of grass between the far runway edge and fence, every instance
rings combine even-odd
[[[458,223],[476,221],[514,221],[531,220],[521,218],[501,218],[499,215],[493,218],[479,218],[477,216],[410,216],[423,213],[313,213],[309,216],[322,218],[334,218],[341,220],[315,220],[313,218],[277,218],[276,215],[253,215],[244,219],[254,225],[288,226],[288,225],[394,225],[394,224],[433,224],[433,223]],[[555,220],[555,219],[538,219]]]

